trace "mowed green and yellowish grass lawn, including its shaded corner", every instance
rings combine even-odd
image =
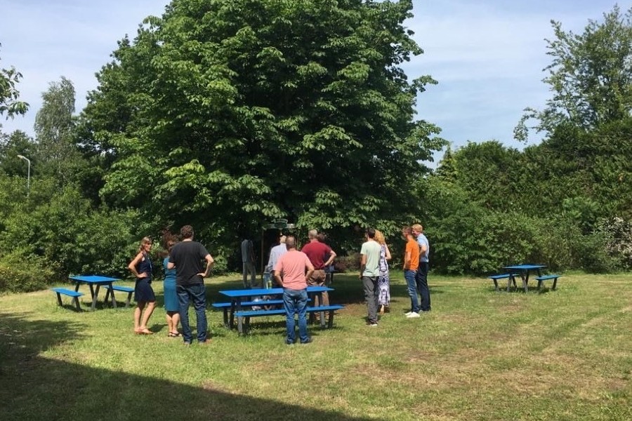
[[[238,278],[207,279],[209,300]],[[405,319],[402,273],[392,278],[392,312],[371,328],[357,276],[336,275],[335,327],[310,326],[314,342],[293,346],[281,316],[253,319],[242,338],[209,309],[211,345],[185,347],[160,307],[156,334],[138,336],[133,309],[2,295],[0,420],[632,420],[632,274],[572,274],[526,294],[430,274],[433,312],[420,319]]]

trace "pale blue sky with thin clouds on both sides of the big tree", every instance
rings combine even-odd
[[[405,23],[424,54],[404,66],[409,77],[430,74],[439,81],[418,98],[417,118],[442,128],[454,147],[468,141],[513,140],[525,107],[541,108],[550,98],[541,79],[551,62],[546,41],[550,21],[582,32],[601,20],[614,0],[414,0],[414,18]],[[125,34],[147,15],[161,15],[166,0],[0,0],[0,67],[14,66],[24,78],[24,117],[0,121],[4,133],[32,135],[41,93],[65,76],[77,91],[77,112],[96,88],[94,74],[111,60]],[[619,1],[622,11],[631,6]],[[539,142],[534,137],[530,142]],[[438,159],[439,156],[437,156]]]

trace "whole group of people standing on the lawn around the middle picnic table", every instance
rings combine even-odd
[[[189,325],[188,309],[193,303],[197,316],[197,341],[206,344],[206,289],[204,278],[209,276],[213,258],[201,243],[193,241],[193,228],[185,225],[180,229],[181,241],[171,239],[167,242],[169,255],[164,258],[164,303],[169,337],[182,336],[185,345],[190,345],[192,330]],[[286,312],[286,343],[296,342],[294,315],[298,314],[298,340],[302,344],[312,340],[307,331],[307,287],[326,286],[327,269],[331,267],[336,253],[325,242],[322,234],[315,229],[308,233],[309,241],[301,250],[297,248],[296,236],[280,236],[279,244],[270,250],[268,272],[283,288],[283,302]],[[402,228],[402,238],[406,241],[404,253],[404,279],[406,279],[411,299],[408,318],[419,317],[421,312],[430,311],[430,290],[428,290],[428,252],[430,246],[423,234],[423,227],[416,224]],[[249,240],[242,241],[242,262],[244,263],[244,286],[250,287],[254,279],[248,282],[248,275],[254,273],[254,250]],[[150,335],[147,322],[156,306],[152,289],[152,261],[149,252],[152,241],[148,237],[140,241],[136,257],[129,263],[129,270],[136,276],[134,310],[134,332],[138,335]],[[388,261],[390,250],[381,232],[369,228],[366,241],[360,249],[360,279],[367,300],[369,316],[368,326],[377,326],[378,312],[390,311],[390,277]],[[202,262],[206,261],[206,269]],[[417,295],[421,295],[421,302]],[[317,298],[318,300],[318,298]],[[329,305],[329,295],[322,293],[315,305]],[[178,323],[182,324],[182,334],[178,332]]]

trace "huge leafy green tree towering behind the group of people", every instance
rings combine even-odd
[[[98,74],[84,145],[103,196],[213,236],[263,220],[388,226],[442,146],[400,64],[412,1],[174,0]]]

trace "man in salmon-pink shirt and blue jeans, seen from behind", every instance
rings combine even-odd
[[[287,337],[285,343],[296,342],[294,332],[294,313],[298,312],[298,338],[301,344],[308,344],[312,339],[307,334],[307,282],[314,272],[310,260],[305,253],[296,250],[296,238],[293,235],[285,239],[287,253],[284,253],[275,265],[275,279],[283,287],[285,306],[285,327]]]

